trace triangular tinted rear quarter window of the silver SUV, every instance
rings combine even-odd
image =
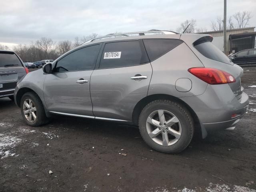
[[[182,41],[178,39],[144,39],[143,42],[150,61],[157,59],[182,44]]]

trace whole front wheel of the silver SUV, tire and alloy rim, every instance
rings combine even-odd
[[[41,126],[48,122],[42,101],[34,92],[27,92],[21,98],[20,110],[26,124]]]

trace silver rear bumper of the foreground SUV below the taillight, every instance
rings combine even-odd
[[[181,99],[194,110],[207,132],[234,127],[249,105],[248,95],[243,92],[238,99],[228,84],[208,85],[204,94]]]

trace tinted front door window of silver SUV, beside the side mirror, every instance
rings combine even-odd
[[[58,60],[55,72],[94,69],[100,45],[92,45],[76,50]]]

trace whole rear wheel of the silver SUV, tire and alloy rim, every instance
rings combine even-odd
[[[149,146],[165,153],[184,150],[194,133],[190,112],[170,100],[156,100],[146,105],[140,114],[139,128]]]

